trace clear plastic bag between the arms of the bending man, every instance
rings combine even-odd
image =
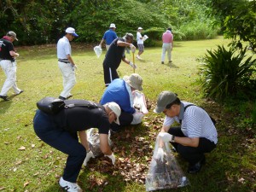
[[[98,133],[98,130],[96,128],[90,128],[86,131],[87,134],[87,141],[90,147],[90,150],[92,153],[97,156],[102,156],[102,150],[100,147],[100,134]],[[110,131],[108,132],[108,144],[112,148],[113,142],[110,139]]]

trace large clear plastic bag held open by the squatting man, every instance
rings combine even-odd
[[[157,137],[146,177],[146,191],[176,189],[188,184],[189,179],[184,175],[172,154],[170,143],[165,143],[163,150],[159,150],[159,137]]]

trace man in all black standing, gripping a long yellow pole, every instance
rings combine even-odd
[[[125,48],[130,47],[131,51],[134,53],[136,47],[132,44],[133,35],[131,33],[126,33],[124,38],[116,38],[113,43],[110,44],[105,59],[103,61],[104,70],[104,82],[105,86],[108,87],[113,79],[119,79],[119,74],[117,69],[121,63],[124,61],[133,68],[137,68],[135,64],[125,58]]]

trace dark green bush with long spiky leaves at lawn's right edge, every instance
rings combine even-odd
[[[224,99],[236,96],[239,90],[250,87],[256,59],[246,55],[247,47],[240,49],[225,49],[218,45],[216,50],[207,50],[201,58],[201,84],[205,96],[213,99]],[[254,79],[255,81],[255,79]]]

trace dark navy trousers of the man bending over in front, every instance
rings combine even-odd
[[[51,147],[68,154],[63,179],[76,183],[80,169],[86,157],[86,149],[79,143],[77,132],[69,132],[55,125],[54,116],[37,111],[34,120],[34,131],[38,137]]]

